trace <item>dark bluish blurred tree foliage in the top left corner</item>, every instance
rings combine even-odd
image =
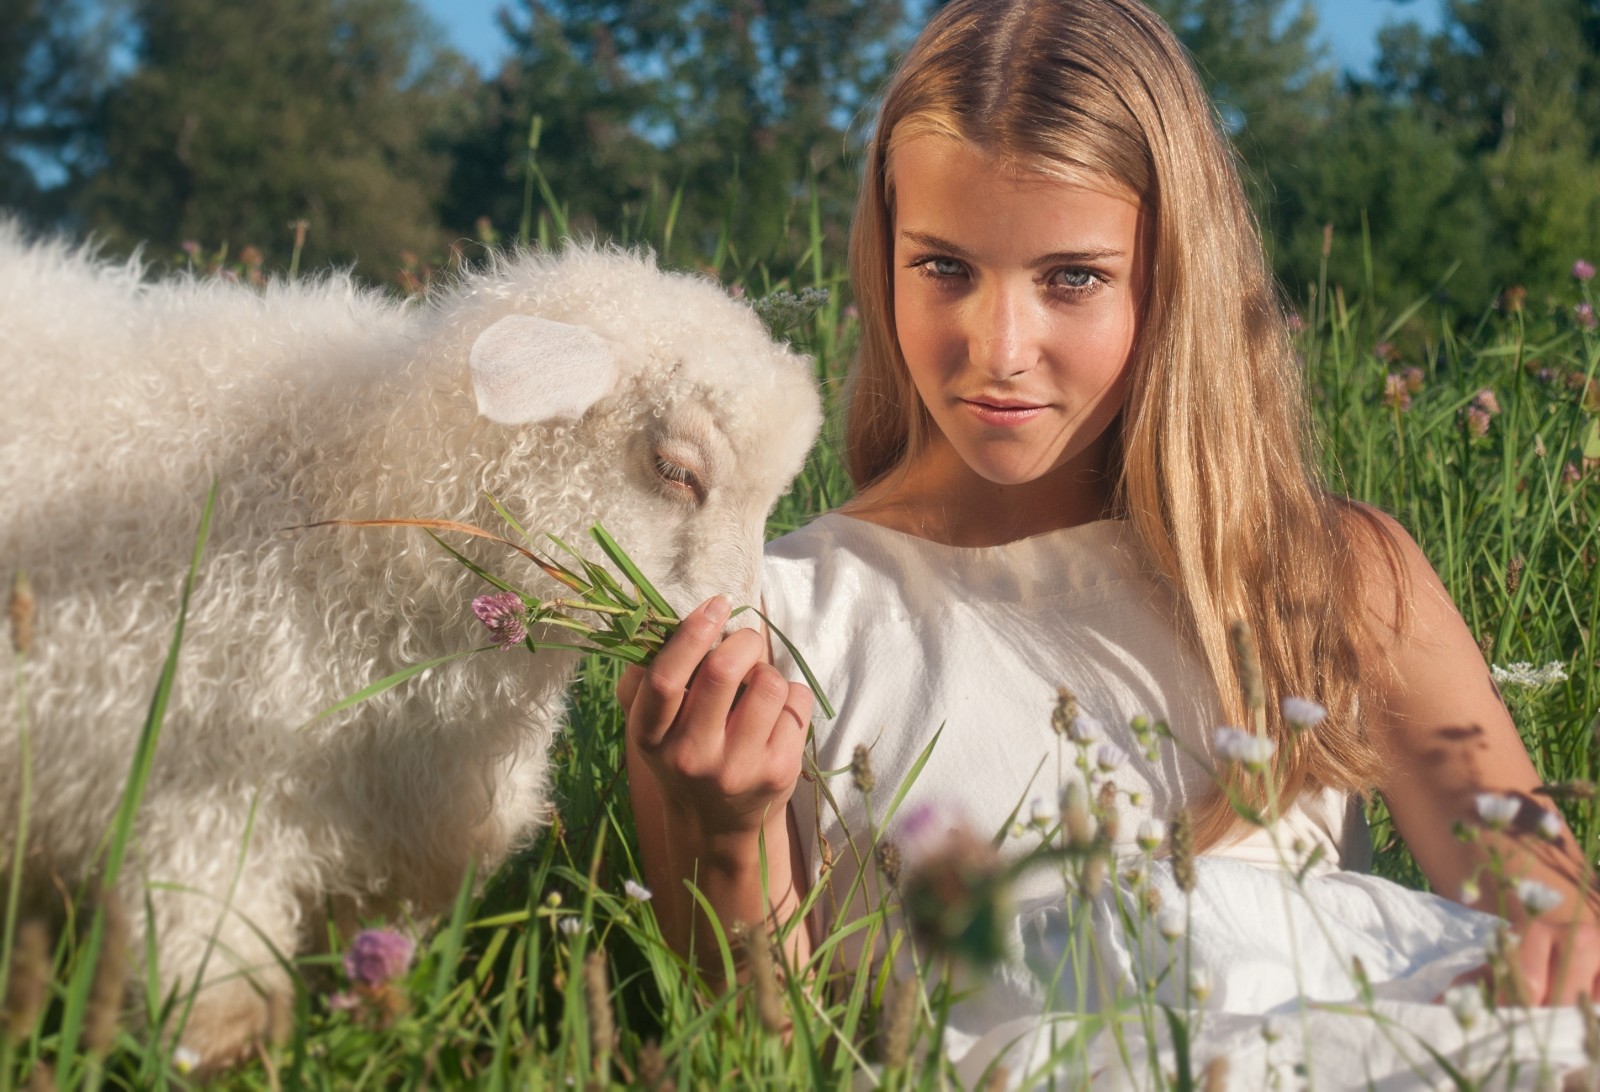
[[[78,0],[0,0],[0,208],[53,223],[82,184],[107,26]]]

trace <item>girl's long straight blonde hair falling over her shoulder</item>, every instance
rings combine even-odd
[[[1200,650],[1224,714],[1248,725],[1229,642],[1250,624],[1267,733],[1286,757],[1280,801],[1366,791],[1378,769],[1362,729],[1378,695],[1352,541],[1387,543],[1365,509],[1317,482],[1302,368],[1232,152],[1182,46],[1136,0],[955,0],[890,82],[851,229],[861,352],[845,445],[859,488],[914,458],[930,421],[894,331],[894,147],[941,133],[997,162],[1067,181],[1112,179],[1150,223],[1150,274],[1114,463],[1114,508],[1176,591],[1179,632]],[[1293,738],[1286,695],[1330,716]],[[1232,789],[1246,799],[1237,778]],[[1259,799],[1253,801],[1259,805]],[[1237,817],[1216,793],[1200,847]]]

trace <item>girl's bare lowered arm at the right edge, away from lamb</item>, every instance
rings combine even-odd
[[[1555,805],[1534,794],[1541,778],[1438,576],[1398,524],[1378,519],[1395,556],[1373,549],[1366,565],[1373,631],[1390,664],[1387,703],[1373,729],[1387,770],[1378,788],[1395,828],[1437,892],[1470,895],[1475,882],[1470,901],[1510,919],[1522,937],[1517,964],[1530,1004],[1571,1004],[1579,993],[1594,998],[1600,993],[1594,869]],[[1403,632],[1397,591],[1413,605]],[[1502,831],[1480,820],[1483,793],[1518,802]],[[1478,837],[1462,842],[1458,823]],[[1504,863],[1502,877],[1483,868],[1491,855]],[[1517,897],[1522,879],[1554,889],[1562,903],[1530,914]]]

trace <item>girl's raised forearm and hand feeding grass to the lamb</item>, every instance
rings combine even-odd
[[[717,974],[710,919],[774,929],[797,913],[805,869],[789,797],[800,778],[811,692],[765,663],[752,629],[717,644],[728,602],[683,620],[651,661],[618,687],[627,711],[627,770],[645,881],[667,941]],[[765,850],[766,882],[762,882]],[[811,954],[803,924],[790,930],[790,966]]]

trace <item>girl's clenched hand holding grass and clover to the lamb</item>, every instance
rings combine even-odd
[[[781,829],[800,778],[811,692],[766,663],[766,640],[738,629],[730,605],[701,604],[648,668],[618,684],[627,748],[654,781],[664,818],[706,849]],[[630,762],[630,765],[634,765]]]

